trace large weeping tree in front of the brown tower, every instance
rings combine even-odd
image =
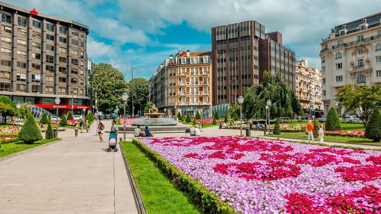
[[[271,100],[270,118],[290,117],[301,115],[302,106],[295,92],[281,81],[281,73],[264,73],[265,81],[246,89],[242,111],[246,119],[266,118],[266,100]]]

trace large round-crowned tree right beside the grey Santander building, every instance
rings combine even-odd
[[[98,109],[106,113],[114,113],[116,106],[122,106],[122,93],[128,92],[123,74],[107,63],[93,66],[90,85],[95,88]]]

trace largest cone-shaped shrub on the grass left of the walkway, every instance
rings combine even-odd
[[[24,141],[25,144],[33,144],[34,141],[42,139],[41,131],[32,115],[26,119],[18,134],[18,139]]]

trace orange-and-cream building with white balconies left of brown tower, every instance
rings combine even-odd
[[[168,115],[195,115],[211,106],[211,52],[182,51],[165,59],[149,80],[149,100]]]

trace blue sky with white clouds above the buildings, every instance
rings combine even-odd
[[[178,48],[211,49],[212,26],[257,20],[266,32],[283,34],[283,45],[320,69],[321,38],[330,29],[379,12],[378,1],[354,0],[3,0],[18,7],[72,19],[90,28],[87,54],[94,62],[118,68],[126,80],[150,78]]]

